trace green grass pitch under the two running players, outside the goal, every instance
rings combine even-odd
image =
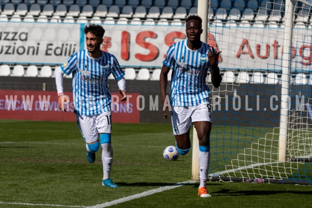
[[[163,149],[175,144],[170,124],[115,123],[112,144],[118,189],[101,186],[101,151],[87,162],[76,123],[0,120],[0,207],[103,207],[114,200],[111,207],[120,208],[311,207],[312,186],[208,182],[212,197],[200,198],[195,182],[144,195],[191,180],[192,152],[163,159]]]

